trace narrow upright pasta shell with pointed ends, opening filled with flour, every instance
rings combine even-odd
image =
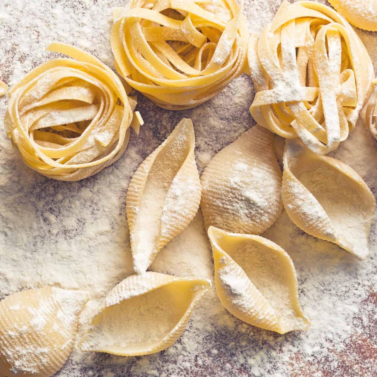
[[[131,179],[126,211],[135,272],[146,271],[198,211],[201,186],[194,150],[193,124],[184,118]]]

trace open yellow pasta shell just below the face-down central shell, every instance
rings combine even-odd
[[[208,236],[216,293],[231,314],[280,334],[309,328],[299,304],[296,270],[281,247],[260,236],[215,227]]]

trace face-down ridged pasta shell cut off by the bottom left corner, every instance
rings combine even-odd
[[[49,377],[68,359],[77,332],[82,292],[44,287],[0,302],[0,375]]]

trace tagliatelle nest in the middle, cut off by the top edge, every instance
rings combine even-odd
[[[248,31],[236,0],[131,0],[113,17],[116,69],[160,107],[198,106],[245,70]]]

